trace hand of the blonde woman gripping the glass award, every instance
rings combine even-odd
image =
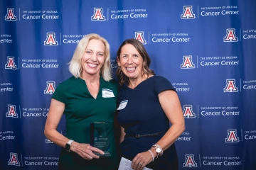
[[[99,159],[100,157],[92,152],[98,152],[100,154],[104,154],[104,152],[96,147],[92,147],[89,144],[81,144],[78,142],[72,142],[70,150],[79,154],[83,159]]]

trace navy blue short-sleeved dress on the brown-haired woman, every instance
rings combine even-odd
[[[174,90],[174,86],[164,77],[153,76],[142,81],[134,89],[122,86],[118,102],[127,101],[125,108],[118,113],[118,123],[126,135],[120,144],[122,157],[132,161],[140,152],[146,152],[169,130],[169,119],[159,103],[161,91]],[[163,132],[154,137],[134,137]],[[146,167],[154,170],[178,169],[178,157],[175,145],[171,145],[164,154]]]

